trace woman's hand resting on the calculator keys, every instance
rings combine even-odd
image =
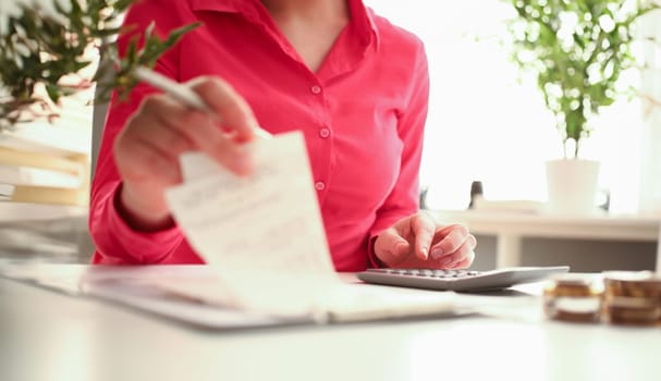
[[[406,217],[383,231],[374,245],[387,267],[463,269],[473,263],[477,241],[461,224],[438,224],[426,212]]]

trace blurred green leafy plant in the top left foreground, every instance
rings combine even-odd
[[[57,105],[97,83],[97,99],[107,101],[113,89],[125,97],[137,81],[132,71],[152,67],[170,47],[197,24],[183,26],[164,39],[154,34],[154,24],[136,34],[122,59],[112,41],[128,30],[119,27],[121,15],[135,0],[53,0],[53,10],[38,4],[19,5],[0,33],[0,132],[20,122],[57,116]],[[2,25],[2,23],[0,23]],[[138,40],[143,39],[139,45]],[[95,76],[79,72],[93,64],[85,54],[100,50]],[[72,82],[71,78],[74,78]],[[42,88],[45,91],[39,91]],[[45,96],[42,95],[45,93]]]

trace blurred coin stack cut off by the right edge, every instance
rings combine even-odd
[[[650,271],[613,271],[603,276],[602,311],[613,324],[661,324],[661,278]]]

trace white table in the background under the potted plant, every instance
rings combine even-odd
[[[473,233],[495,235],[498,268],[521,265],[523,237],[658,242],[661,217],[572,217],[501,211],[431,211],[439,221],[466,224]],[[657,271],[661,258],[657,255]]]

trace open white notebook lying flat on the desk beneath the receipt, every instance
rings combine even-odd
[[[219,283],[218,269],[204,265],[87,266],[0,263],[0,276],[76,297],[101,298],[121,306],[211,330],[291,324],[323,324],[403,317],[446,317],[460,310],[454,293],[420,292],[359,284],[339,274],[329,294],[318,295],[309,311],[269,314],[233,305]]]

